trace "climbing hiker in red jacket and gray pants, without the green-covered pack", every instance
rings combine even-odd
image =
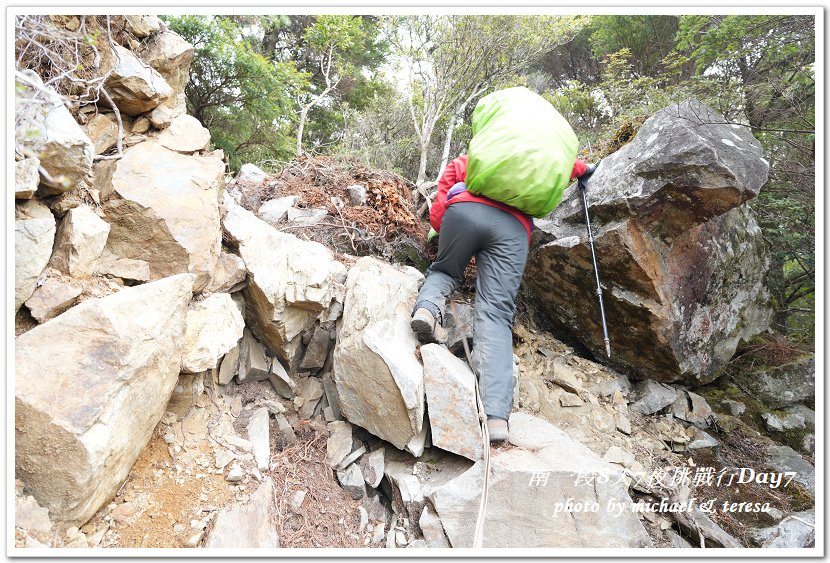
[[[426,271],[411,327],[421,342],[447,338],[442,324],[445,306],[458,288],[464,269],[476,257],[476,305],[473,326],[473,370],[479,377],[490,441],[508,437],[513,403],[513,335],[516,295],[524,273],[533,219],[530,215],[466,189],[468,156],[447,165],[430,209],[439,232],[438,256]],[[587,165],[575,160],[571,179]]]

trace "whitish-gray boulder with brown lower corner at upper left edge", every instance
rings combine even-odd
[[[51,177],[43,178],[44,195],[74,189],[92,173],[95,148],[51,87],[31,70],[15,72],[15,143],[26,156],[40,159]]]

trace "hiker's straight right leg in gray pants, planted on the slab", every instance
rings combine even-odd
[[[516,296],[527,261],[524,225],[489,207],[486,240],[476,257],[473,367],[488,416],[507,419],[513,404],[513,335]],[[506,437],[506,436],[505,436]]]

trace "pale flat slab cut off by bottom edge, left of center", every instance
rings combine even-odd
[[[274,481],[271,477],[257,487],[248,504],[223,508],[216,515],[205,547],[244,549],[280,546],[277,534]]]

